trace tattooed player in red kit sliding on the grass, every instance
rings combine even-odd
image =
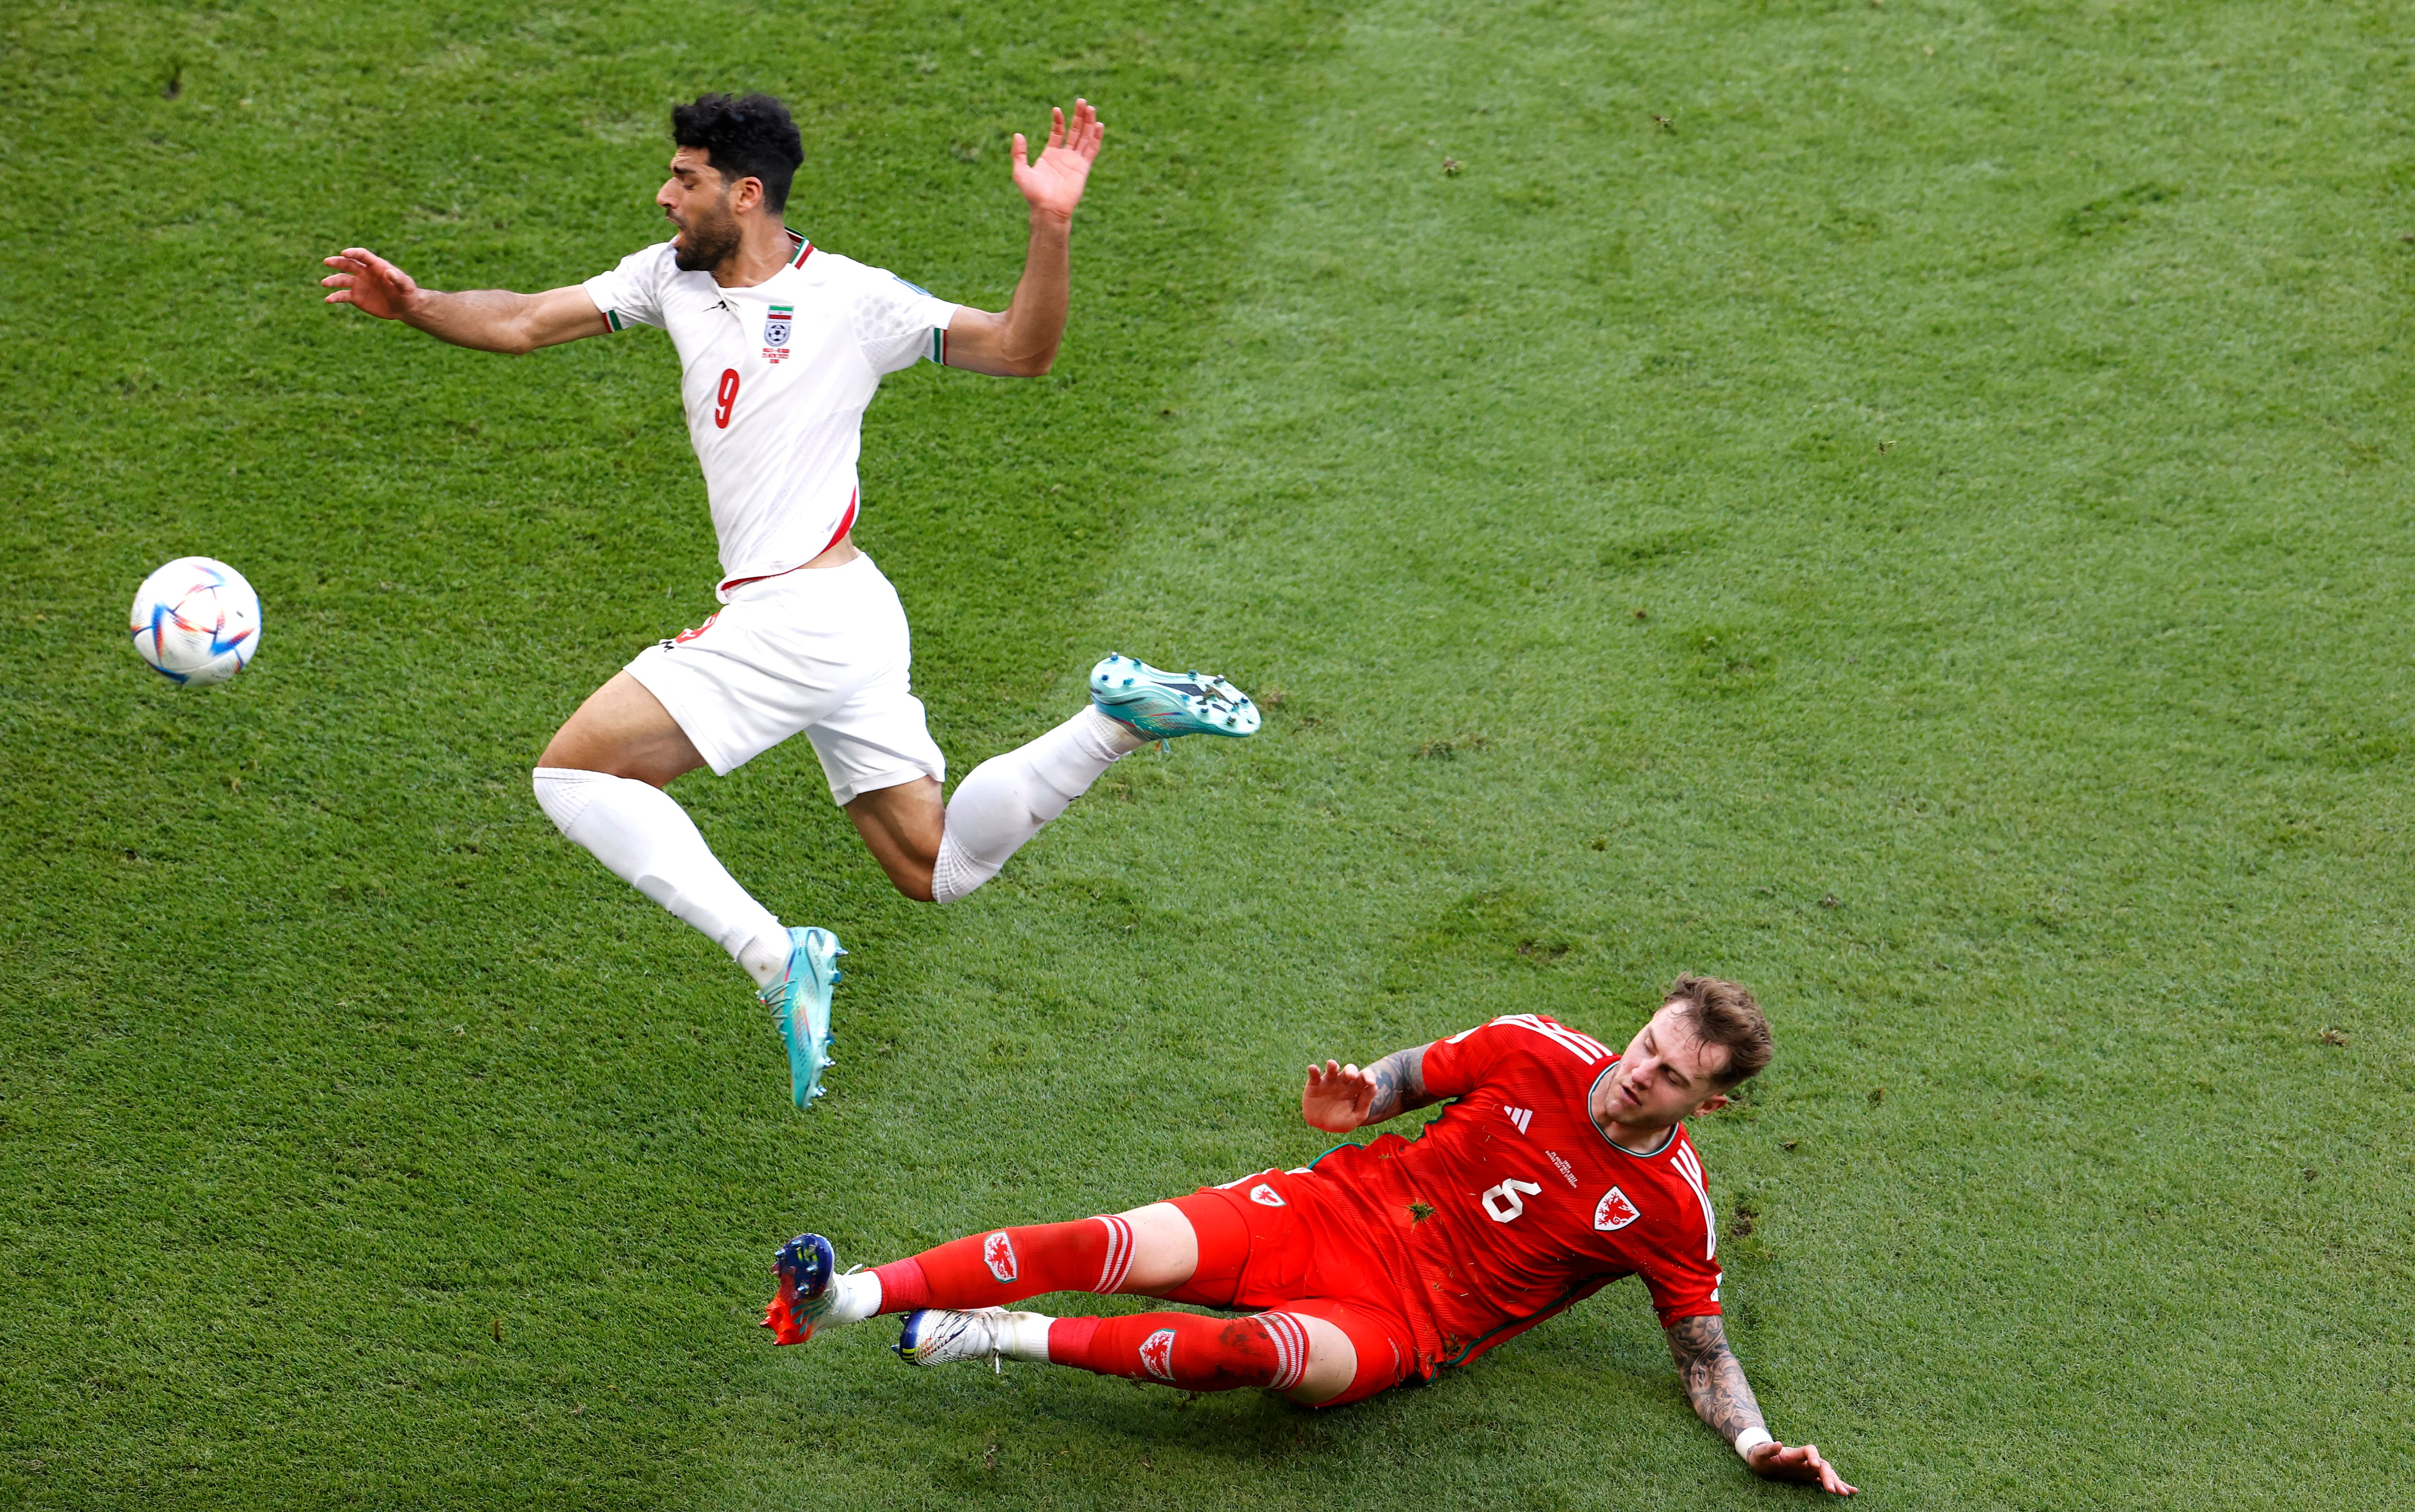
[[[799,1343],[903,1312],[913,1365],[1046,1360],[1183,1391],[1261,1386],[1343,1406],[1466,1365],[1642,1275],[1695,1413],[1775,1481],[1838,1495],[1814,1444],[1770,1437],[1719,1324],[1719,1234],[1683,1118],[1770,1060],[1736,983],[1681,976],[1623,1053],[1509,1014],[1377,1060],[1309,1068],[1299,1113],[1348,1133],[1449,1099],[1418,1138],[1343,1145],[1113,1217],[990,1229],[838,1273],[821,1234],[780,1249],[766,1324]],[[1043,1292],[1135,1292],[1241,1312],[1053,1319]]]

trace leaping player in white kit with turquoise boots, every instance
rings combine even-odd
[[[729,877],[664,792],[674,778],[698,766],[727,775],[804,732],[831,799],[898,891],[949,903],[995,877],[1123,754],[1258,729],[1256,705],[1224,679],[1111,655],[1092,669],[1087,708],[983,761],[942,807],[947,761],[908,688],[906,611],[850,539],[862,415],[884,374],[930,360],[1036,377],[1055,362],[1072,210],[1101,138],[1089,101],[1075,101],[1070,123],[1053,111],[1034,162],[1017,133],[1031,246],[1002,314],[935,300],[787,229],[780,213],[804,147],[768,94],[705,94],[671,111],[671,179],[654,203],[679,234],[582,285],[447,295],[362,246],[326,258],[331,304],[454,345],[529,353],[659,326],[679,348],[688,440],[720,536],[722,609],[638,652],[570,715],[539,758],[536,802],[756,978],[787,1039],[797,1106],[821,1094],[845,952],[828,930],[782,927]]]

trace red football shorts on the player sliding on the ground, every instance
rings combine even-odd
[[[1357,1374],[1321,1408],[1338,1408],[1398,1386],[1418,1372],[1418,1336],[1401,1290],[1384,1270],[1374,1241],[1350,1212],[1335,1210],[1311,1181],[1261,1171],[1224,1186],[1203,1186],[1174,1205],[1191,1220],[1200,1263],[1191,1280],[1166,1292],[1232,1312],[1294,1312],[1323,1319],[1350,1338]]]

